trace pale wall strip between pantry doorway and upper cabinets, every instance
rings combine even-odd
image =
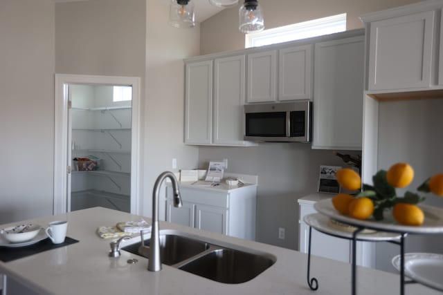
[[[183,59],[199,55],[200,27],[173,28],[167,23],[167,1],[148,0],[147,3],[143,213],[151,216],[156,177],[165,170],[197,168],[198,148],[183,144]],[[172,158],[177,159],[177,169],[171,169]],[[161,218],[163,213],[165,209],[161,208]]]

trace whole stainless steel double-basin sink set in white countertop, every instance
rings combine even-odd
[[[149,246],[150,240],[145,240]],[[149,258],[141,242],[123,250]],[[161,263],[219,283],[238,284],[255,278],[275,263],[275,256],[207,242],[180,231],[160,231]]]

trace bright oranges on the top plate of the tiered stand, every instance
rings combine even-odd
[[[386,171],[379,171],[374,177],[383,175],[380,186],[392,189],[395,193],[395,188],[407,187],[414,179],[414,170],[407,163],[397,163]],[[386,175],[386,176],[385,176]],[[352,169],[340,169],[336,173],[338,183],[348,191],[357,191],[361,189],[361,178],[358,173]],[[339,193],[332,198],[334,208],[347,216],[352,218],[365,220],[374,214],[374,218],[379,220],[383,218],[383,209],[392,207],[392,216],[401,225],[419,226],[424,222],[424,213],[422,209],[417,206],[417,202],[424,200],[415,193],[409,193],[415,198],[397,198],[393,196],[386,197],[383,193],[377,191],[377,185],[368,186],[363,184],[363,191],[356,196],[351,196],[347,193]],[[433,175],[426,180],[418,189],[422,192],[432,192],[437,196],[443,196],[443,173]],[[374,211],[381,209],[380,214],[375,215]]]

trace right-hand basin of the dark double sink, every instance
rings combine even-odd
[[[255,278],[275,261],[265,255],[235,249],[216,249],[179,269],[219,283],[238,284]]]

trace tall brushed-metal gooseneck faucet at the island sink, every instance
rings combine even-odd
[[[174,173],[165,171],[159,175],[154,184],[152,191],[152,230],[150,243],[150,258],[147,264],[147,270],[151,272],[159,272],[161,270],[160,260],[160,237],[159,237],[159,195],[161,183],[165,178],[170,178],[174,193],[174,207],[181,207],[181,197],[179,191],[179,182],[175,178]],[[143,239],[142,239],[143,240]]]

